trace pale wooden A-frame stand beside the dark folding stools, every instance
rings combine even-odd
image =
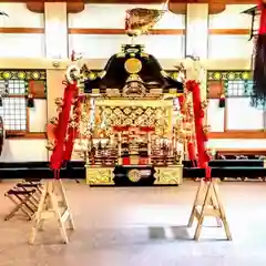
[[[61,180],[48,181],[44,183],[29,244],[34,243],[37,232],[43,228],[44,219],[50,218],[55,218],[58,221],[62,241],[64,244],[68,244],[69,237],[66,229],[74,229],[74,223]],[[68,228],[65,222],[69,223]]]

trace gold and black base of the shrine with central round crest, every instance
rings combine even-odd
[[[180,185],[183,165],[117,165],[103,167],[85,165],[86,184],[116,186]]]

